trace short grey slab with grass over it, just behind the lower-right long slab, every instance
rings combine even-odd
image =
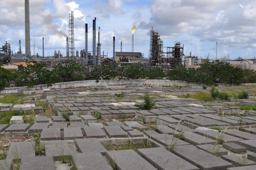
[[[219,145],[205,144],[205,145],[197,145],[197,148],[204,150],[208,153],[211,153],[215,156],[227,155],[228,150],[220,147]]]

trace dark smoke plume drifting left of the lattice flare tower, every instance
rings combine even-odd
[[[67,34],[64,31],[59,30],[59,26],[53,23],[53,16],[50,13],[42,14],[42,21],[46,25],[47,29],[49,29],[54,34],[60,37],[66,37]]]

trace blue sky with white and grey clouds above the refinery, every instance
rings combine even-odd
[[[30,0],[31,54],[42,55],[42,37],[45,54],[61,50],[66,55],[66,34],[70,9],[75,17],[75,50],[84,48],[84,24],[89,25],[88,49],[91,51],[91,25],[97,18],[101,27],[101,50],[113,56],[112,37],[116,36],[116,51],[131,51],[133,26],[134,51],[148,57],[149,31],[154,27],[164,41],[173,46],[184,44],[184,53],[215,58],[253,58],[256,51],[256,0]],[[0,43],[11,43],[18,51],[21,39],[25,49],[24,0],[0,3]]]

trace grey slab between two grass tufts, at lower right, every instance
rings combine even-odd
[[[193,132],[184,132],[184,141],[193,145],[215,144],[216,141]]]

